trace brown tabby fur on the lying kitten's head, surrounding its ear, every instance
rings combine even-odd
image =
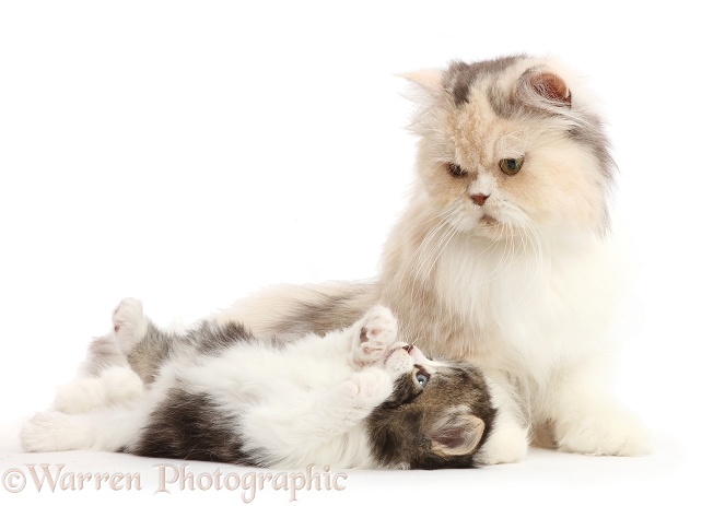
[[[398,378],[390,397],[366,421],[375,459],[386,467],[410,469],[470,468],[491,433],[496,409],[491,404],[483,374],[471,364],[448,363],[431,376],[425,388],[414,375]],[[452,411],[467,410],[486,424],[476,447],[465,455],[440,455],[426,433]]]

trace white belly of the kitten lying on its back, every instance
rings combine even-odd
[[[335,437],[305,439],[301,435],[314,431],[312,419],[324,416],[309,408],[319,403],[320,392],[332,389],[351,373],[337,356],[239,344],[220,356],[201,357],[191,366],[175,364],[164,372],[162,381],[165,390],[180,380],[188,390],[212,396],[225,413],[238,419],[245,450],[264,456],[268,466],[372,468],[374,459],[363,423]]]

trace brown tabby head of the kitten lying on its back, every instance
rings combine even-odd
[[[386,369],[396,378],[393,393],[367,419],[377,461],[402,469],[472,467],[496,413],[482,373],[430,361],[414,346],[394,349]]]

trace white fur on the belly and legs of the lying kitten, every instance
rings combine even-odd
[[[143,327],[128,323],[126,329]],[[366,342],[360,339],[363,326]],[[132,448],[169,389],[182,387],[236,414],[245,451],[259,450],[267,458],[262,463],[373,467],[361,422],[391,393],[394,379],[413,366],[396,336],[390,311],[375,307],[350,328],[325,338],[311,334],[284,350],[250,342],[218,356],[171,360],[145,392],[130,368],[112,368],[65,387],[52,410],[23,427],[21,439],[30,451]]]

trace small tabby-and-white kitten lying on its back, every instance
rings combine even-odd
[[[60,389],[52,409],[23,427],[26,450],[287,469],[463,468],[494,426],[481,372],[398,342],[382,306],[324,338],[287,342],[208,321],[165,333],[133,299],[114,326],[126,366]]]

